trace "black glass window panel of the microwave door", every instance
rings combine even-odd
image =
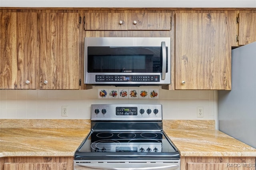
[[[87,71],[88,73],[161,73],[161,56],[161,47],[87,47]]]

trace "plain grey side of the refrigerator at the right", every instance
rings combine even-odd
[[[219,130],[256,148],[256,42],[232,49],[232,90],[218,96]]]

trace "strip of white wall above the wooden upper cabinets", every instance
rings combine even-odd
[[[0,0],[5,7],[255,8],[256,0]]]

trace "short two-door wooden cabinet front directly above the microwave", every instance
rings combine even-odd
[[[170,30],[170,13],[86,13],[84,30]]]

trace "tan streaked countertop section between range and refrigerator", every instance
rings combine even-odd
[[[211,120],[164,120],[163,129],[181,156],[256,157],[255,148],[216,130]]]

